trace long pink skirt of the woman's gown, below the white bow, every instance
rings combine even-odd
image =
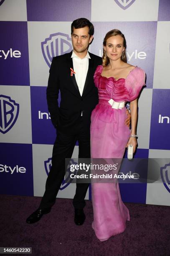
[[[130,130],[124,124],[126,108],[117,110],[101,103],[96,105],[91,114],[91,159],[108,159],[109,163],[113,159],[114,164],[114,158],[121,161],[130,136]],[[117,179],[111,183],[91,183],[91,188],[94,213],[92,228],[97,238],[105,241],[124,232],[130,217],[129,210],[122,202]]]

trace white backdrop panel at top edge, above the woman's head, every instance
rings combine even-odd
[[[133,2],[132,5],[127,5],[127,9],[124,10],[122,7],[125,6],[126,0],[91,0],[91,21],[157,20],[159,0],[130,0],[130,2]]]

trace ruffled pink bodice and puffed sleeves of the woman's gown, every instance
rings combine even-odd
[[[145,84],[145,72],[140,67],[135,67],[127,78],[102,77],[103,67],[100,65],[94,73],[94,83],[98,88],[99,100],[110,100],[116,102],[135,100]]]

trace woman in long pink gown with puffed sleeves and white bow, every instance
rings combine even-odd
[[[137,97],[145,84],[145,72],[127,64],[126,40],[121,31],[109,31],[104,38],[103,64],[96,68],[94,83],[99,104],[91,114],[91,159],[122,159],[125,148],[137,146]],[[124,125],[125,102],[130,102],[131,131]],[[92,228],[100,241],[122,233],[130,220],[117,179],[112,183],[92,182],[94,220]]]

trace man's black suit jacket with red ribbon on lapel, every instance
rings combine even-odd
[[[47,87],[47,103],[51,121],[57,129],[71,132],[83,112],[84,125],[89,130],[91,111],[98,103],[98,91],[94,85],[94,72],[101,65],[101,57],[89,53],[89,69],[82,96],[76,83],[75,75],[71,76],[73,61],[72,51],[68,54],[53,57]],[[58,93],[61,92],[60,107]]]

